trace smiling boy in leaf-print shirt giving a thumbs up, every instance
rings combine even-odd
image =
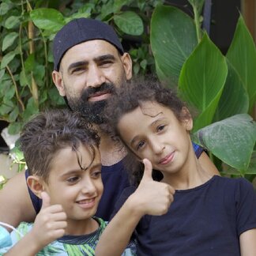
[[[21,223],[6,255],[94,255],[106,227],[94,216],[103,193],[100,137],[79,115],[52,110],[36,115],[21,132],[30,171],[27,183],[43,205],[35,224]],[[0,244],[1,248],[1,244]],[[133,254],[133,250],[126,250]]]

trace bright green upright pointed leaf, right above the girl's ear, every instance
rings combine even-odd
[[[184,100],[200,113],[195,119],[194,130],[213,121],[227,74],[224,56],[205,33],[184,63],[179,77],[179,90]]]

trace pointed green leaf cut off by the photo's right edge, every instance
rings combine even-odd
[[[241,77],[250,99],[249,111],[256,101],[256,48],[243,17],[235,28],[235,35],[227,53],[228,60]]]

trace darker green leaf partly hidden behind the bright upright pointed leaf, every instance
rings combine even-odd
[[[220,121],[232,115],[247,113],[249,98],[239,74],[228,62],[228,77],[215,113],[214,120]]]

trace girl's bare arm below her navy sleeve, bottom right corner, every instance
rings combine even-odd
[[[256,228],[243,232],[240,237],[241,256],[256,255]]]

